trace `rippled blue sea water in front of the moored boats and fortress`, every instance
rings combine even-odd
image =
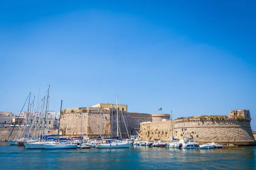
[[[256,147],[245,150],[123,149],[29,150],[0,142],[0,169],[256,170]]]

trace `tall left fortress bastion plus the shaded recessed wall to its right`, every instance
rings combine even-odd
[[[102,125],[102,136],[111,136],[111,127],[113,122],[113,137],[117,135],[116,109],[102,109],[102,124],[100,123],[100,108],[68,108],[61,112],[60,132],[66,137],[84,136],[97,137],[100,136],[100,125]],[[137,135],[140,130],[141,122],[152,122],[151,114],[133,113],[118,111],[119,133],[123,138],[129,135]],[[127,130],[126,130],[126,127]]]

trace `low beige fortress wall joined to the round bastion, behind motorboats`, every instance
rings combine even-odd
[[[173,134],[175,138],[193,138],[197,142],[232,143],[239,145],[254,145],[255,139],[250,127],[250,111],[230,111],[229,116],[192,116],[181,117],[173,121]],[[168,121],[171,122],[171,121]],[[167,122],[144,122],[140,126],[139,138],[149,140],[172,140],[168,134]],[[167,130],[166,130],[167,129]],[[169,134],[171,130],[169,129]]]

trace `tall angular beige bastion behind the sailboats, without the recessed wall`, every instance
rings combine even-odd
[[[81,110],[86,109],[86,113]],[[100,127],[102,127],[102,136],[111,136],[111,115],[112,108],[109,110],[102,110],[102,124],[100,124],[100,108],[88,107],[80,109],[81,112],[62,113],[60,122],[60,131],[64,136],[77,136],[83,134],[84,136],[94,137],[100,136]],[[73,111],[75,111],[73,109]],[[85,111],[85,110],[84,110]],[[82,118],[81,118],[82,115]],[[82,127],[81,127],[82,122]],[[123,137],[128,137],[125,125],[128,132],[131,132],[129,123],[129,114],[125,111],[118,111],[119,131]],[[125,122],[125,123],[124,123]],[[117,130],[116,109],[113,109],[113,136],[116,136]]]

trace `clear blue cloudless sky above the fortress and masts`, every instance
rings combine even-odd
[[[50,86],[50,110],[119,102],[180,116],[249,109],[255,1],[0,1],[0,111]],[[42,97],[42,96],[41,96]]]

